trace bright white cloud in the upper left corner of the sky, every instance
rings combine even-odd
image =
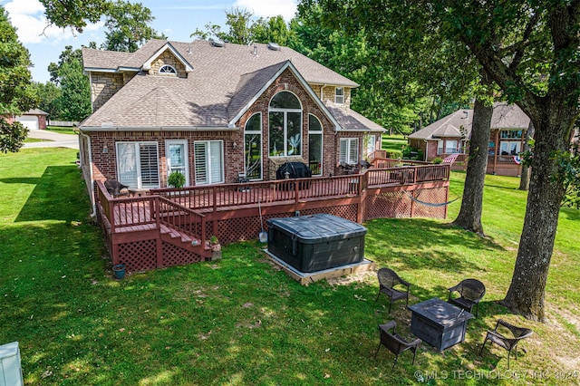
[[[73,39],[75,34],[69,28],[48,25],[44,6],[38,0],[13,0],[5,4],[10,21],[16,27],[18,38],[24,44],[56,44]],[[102,24],[89,24],[84,31],[94,31]]]

